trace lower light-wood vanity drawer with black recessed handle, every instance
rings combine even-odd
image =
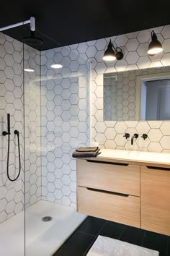
[[[78,211],[108,221],[140,227],[140,197],[113,195],[78,187]]]

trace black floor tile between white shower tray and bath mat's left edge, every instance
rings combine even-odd
[[[83,256],[94,239],[95,236],[76,231],[53,256]]]

